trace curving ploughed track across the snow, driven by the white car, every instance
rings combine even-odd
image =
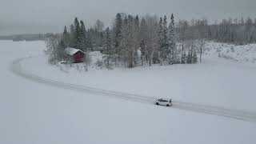
[[[147,104],[154,104],[154,101],[158,99],[158,98],[146,97],[138,94],[128,94],[128,93],[122,93],[122,92],[111,91],[111,90],[102,90],[102,89],[97,89],[90,86],[79,86],[79,85],[74,85],[70,83],[54,81],[53,79],[49,79],[49,78],[42,78],[38,75],[30,74],[28,71],[22,69],[21,62],[28,58],[32,58],[32,57],[19,58],[14,62],[11,62],[10,70],[14,74],[18,74],[19,76],[29,79],[31,81],[39,82],[39,83],[50,85],[50,86],[57,86],[64,89],[77,90],[77,91],[96,94],[96,95],[104,95],[112,98],[122,98],[129,101],[142,102]],[[214,114],[214,115],[218,115],[226,118],[235,118],[235,119],[239,119],[247,122],[256,122],[256,113],[244,111],[244,110],[231,110],[231,109],[226,109],[218,106],[206,106],[206,105],[199,105],[199,104],[194,104],[190,102],[178,102],[178,101],[173,101],[172,108],[179,109],[179,110],[189,110],[189,111],[204,113],[204,114]]]

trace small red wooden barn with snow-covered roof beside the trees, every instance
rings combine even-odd
[[[70,62],[79,63],[84,62],[86,59],[86,53],[79,49],[68,47],[65,49],[66,59]]]

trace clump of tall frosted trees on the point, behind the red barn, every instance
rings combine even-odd
[[[86,30],[84,22],[75,18],[70,30],[65,26],[63,34],[49,38],[46,54],[49,61],[54,63],[64,58],[66,47],[83,51],[102,50],[107,67],[196,63],[196,49],[186,52],[177,48],[174,15],[171,14],[169,23],[167,21],[166,15],[139,18],[138,15],[118,13],[113,26],[104,30],[103,23],[98,20],[94,28]]]

